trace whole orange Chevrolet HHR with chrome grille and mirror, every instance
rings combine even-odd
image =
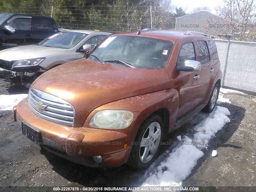
[[[25,136],[70,161],[145,169],[169,132],[214,110],[221,78],[205,34],[123,32],[42,74],[13,115]]]

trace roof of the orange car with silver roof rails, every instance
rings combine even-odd
[[[196,33],[198,33],[198,34],[196,34]],[[133,36],[139,35],[139,36],[144,36],[144,37],[169,40],[172,42],[176,42],[180,38],[193,38],[193,37],[209,38],[207,36],[203,36],[199,32],[186,33],[186,32],[181,32],[181,31],[156,30],[156,29],[145,29],[145,30],[140,30],[140,31],[135,31],[135,32],[121,32],[121,33],[115,34],[115,36],[118,36],[118,35],[133,35]]]

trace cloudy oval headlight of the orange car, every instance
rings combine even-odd
[[[127,110],[102,110],[96,112],[89,125],[107,129],[122,129],[128,127],[133,119],[133,113]]]

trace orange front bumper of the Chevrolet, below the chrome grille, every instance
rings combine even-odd
[[[44,120],[29,109],[27,99],[14,107],[13,115],[15,121],[40,131],[43,148],[78,164],[114,167],[129,158],[130,139],[122,132],[71,127]],[[103,158],[101,164],[92,159],[99,155]]]

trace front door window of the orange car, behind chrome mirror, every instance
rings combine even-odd
[[[177,65],[183,65],[186,60],[196,60],[194,44],[192,42],[182,45]]]

